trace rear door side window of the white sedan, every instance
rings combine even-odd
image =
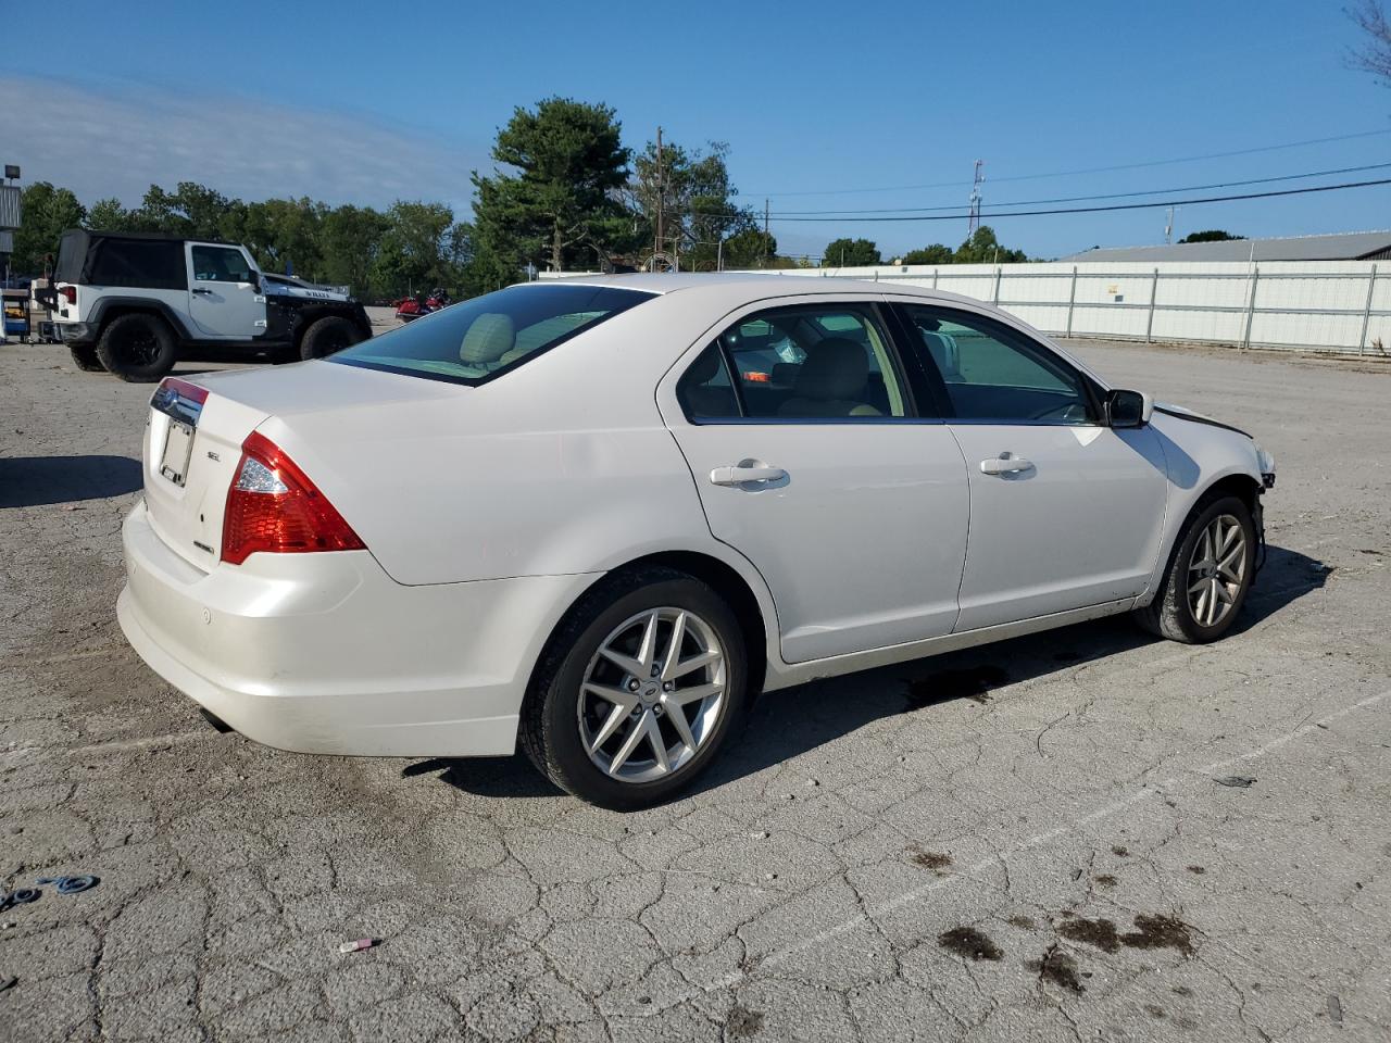
[[[677,398],[693,420],[908,414],[883,324],[872,306],[855,303],[778,307],[739,320],[687,370]]]

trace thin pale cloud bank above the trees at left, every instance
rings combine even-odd
[[[198,181],[248,200],[430,199],[463,216],[469,172],[492,165],[485,147],[241,97],[28,76],[0,76],[0,159],[18,163],[25,184],[51,181],[86,203],[136,204],[150,184]]]

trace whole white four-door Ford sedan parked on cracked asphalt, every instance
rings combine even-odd
[[[1011,316],[776,275],[529,284],[166,380],[121,626],[284,750],[669,797],[758,691],[1134,612],[1221,637],[1274,463]]]

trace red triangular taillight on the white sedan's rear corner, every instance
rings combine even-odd
[[[295,462],[266,435],[252,431],[227,492],[223,560],[241,565],[257,551],[364,551],[342,515]]]

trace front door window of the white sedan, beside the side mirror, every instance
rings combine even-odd
[[[1081,374],[1003,323],[967,312],[904,305],[914,345],[946,385],[961,420],[1089,424]]]

